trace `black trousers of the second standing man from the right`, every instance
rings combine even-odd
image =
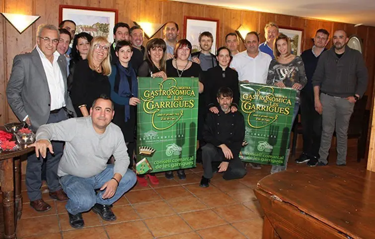
[[[303,152],[308,156],[319,158],[322,116],[315,110],[314,95],[312,93],[301,93],[300,107]]]

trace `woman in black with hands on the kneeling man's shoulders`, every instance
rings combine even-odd
[[[238,89],[238,73],[229,68],[230,51],[226,47],[218,49],[216,59],[219,65],[210,68],[205,73],[206,86],[206,107],[213,113],[219,113],[219,103],[217,93],[221,87],[228,87],[233,91],[233,102],[231,111],[238,109],[239,89]]]

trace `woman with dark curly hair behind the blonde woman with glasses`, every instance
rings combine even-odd
[[[72,52],[69,55],[71,60],[69,62],[69,76],[68,76],[68,90],[71,90],[75,66],[80,60],[87,58],[88,50],[90,49],[90,42],[92,36],[87,32],[81,32],[75,35],[73,40]]]

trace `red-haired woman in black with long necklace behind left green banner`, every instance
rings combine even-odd
[[[197,63],[189,61],[189,56],[192,46],[186,39],[181,39],[177,42],[174,48],[174,59],[166,61],[166,74],[167,77],[200,77],[202,73],[201,66]],[[199,93],[202,93],[204,85],[199,82]],[[198,116],[199,118],[199,116]],[[198,120],[199,121],[199,120]],[[199,123],[198,123],[199,125]],[[185,179],[186,174],[184,169],[177,170],[177,176],[180,179]],[[165,177],[168,179],[173,178],[173,172],[165,172]]]

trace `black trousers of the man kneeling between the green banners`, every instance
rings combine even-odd
[[[229,160],[228,168],[224,172],[223,178],[225,180],[243,178],[247,173],[238,155],[233,155],[233,157],[233,159]],[[208,143],[202,147],[202,159],[204,169],[203,176],[205,178],[212,178],[214,176],[212,162],[222,162],[224,155],[220,148]]]

